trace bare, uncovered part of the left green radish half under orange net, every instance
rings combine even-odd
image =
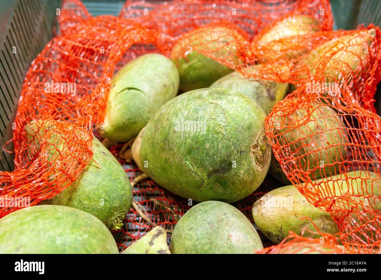
[[[110,230],[117,230],[123,226],[123,220],[130,211],[130,180],[114,155],[96,138],[93,138],[93,152],[91,162],[78,178],[43,203],[86,211],[100,219]]]

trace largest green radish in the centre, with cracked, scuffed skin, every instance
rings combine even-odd
[[[182,197],[235,202],[256,190],[269,168],[265,117],[241,93],[189,91],[150,119],[141,134],[140,158],[134,159],[160,186]]]

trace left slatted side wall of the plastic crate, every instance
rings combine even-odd
[[[54,37],[60,0],[2,0],[0,9],[0,170],[14,168],[12,143],[22,83],[30,62]],[[5,149],[6,150],[5,150]]]

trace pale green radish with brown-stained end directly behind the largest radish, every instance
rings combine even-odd
[[[256,66],[251,66],[256,67]],[[288,83],[256,80],[232,72],[211,84],[211,88],[229,88],[253,99],[267,114],[277,101],[282,100],[288,90]]]

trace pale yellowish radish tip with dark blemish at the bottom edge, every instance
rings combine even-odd
[[[146,235],[129,246],[121,254],[170,254],[166,243],[166,232],[160,227],[154,227]]]

